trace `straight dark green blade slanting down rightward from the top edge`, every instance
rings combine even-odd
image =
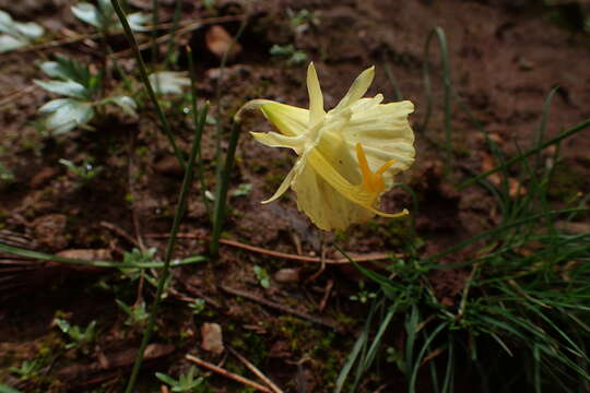
[[[174,141],[174,135],[170,130],[170,124],[168,123],[168,120],[166,119],[166,116],[164,115],[164,110],[162,110],[162,107],[160,106],[160,103],[157,102],[157,97],[154,93],[154,90],[152,88],[152,84],[150,83],[150,80],[148,79],[148,71],[145,69],[145,63],[143,62],[143,58],[141,57],[138,41],[135,40],[135,36],[133,36],[133,32],[131,32],[131,27],[129,26],[129,23],[127,22],[127,17],[125,16],[125,12],[121,9],[121,5],[119,4],[118,0],[110,0],[113,8],[115,9],[115,12],[117,13],[117,16],[119,16],[119,20],[121,21],[121,25],[125,31],[125,35],[127,36],[127,39],[129,40],[129,45],[131,45],[131,48],[133,48],[133,53],[135,55],[135,59],[138,61],[138,66],[140,69],[140,75],[141,80],[143,82],[143,85],[145,86],[145,90],[148,92],[148,95],[150,96],[150,99],[152,100],[152,104],[154,105],[156,109],[157,117],[160,119],[160,122],[162,123],[162,128],[164,129],[164,133],[168,138],[168,141],[170,142],[170,145],[173,146],[174,154],[176,155],[176,158],[178,159],[178,163],[182,168],[186,168],[185,160],[182,159],[182,154],[178,150],[178,146],[176,145],[176,142]]]

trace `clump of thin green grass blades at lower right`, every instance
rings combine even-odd
[[[442,78],[450,81],[445,66],[448,55],[444,33],[435,33],[442,47]],[[457,95],[447,83],[445,88],[448,116],[449,99],[457,99]],[[554,93],[545,102],[536,145],[510,159],[504,157],[467,106],[458,100],[484,133],[499,163],[458,189],[483,187],[496,200],[502,222],[496,228],[434,255],[418,255],[411,241],[409,257],[392,260],[389,275],[355,264],[379,286],[380,293],[371,303],[334,392],[344,391],[345,386],[355,391],[386,355],[391,360],[389,367],[404,376],[406,391],[411,393],[426,389],[418,385],[418,376],[420,381],[429,376],[428,389],[433,392],[453,392],[459,374],[462,381],[465,376],[471,377],[472,389],[481,392],[590,389],[590,234],[569,234],[555,224],[557,219],[571,222],[588,212],[589,198],[569,201],[565,210],[552,210],[547,193],[555,165],[546,166],[542,157],[545,147],[558,147],[563,139],[590,127],[590,120],[545,141]],[[450,126],[445,129],[450,166]],[[557,160],[558,148],[552,162]],[[510,194],[509,179],[517,164],[519,188],[526,192],[515,196]],[[500,177],[498,186],[486,180],[491,174]],[[442,259],[445,264],[440,263]],[[465,279],[452,301],[442,301],[430,277],[435,271],[450,270],[461,272]],[[382,349],[385,343],[392,341],[394,321],[403,321],[405,343],[402,347],[390,346],[386,353]]]

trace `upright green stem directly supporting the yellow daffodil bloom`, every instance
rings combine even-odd
[[[221,177],[217,179],[215,189],[215,206],[214,206],[214,219],[213,219],[213,237],[211,240],[210,252],[212,255],[216,255],[220,250],[220,237],[225,221],[225,202],[227,199],[227,188],[229,186],[229,177],[232,174],[232,167],[234,165],[234,157],[236,155],[236,147],[239,140],[240,127],[237,121],[232,124],[232,134],[229,135],[229,145],[227,146],[227,154],[225,156],[225,165]]]

